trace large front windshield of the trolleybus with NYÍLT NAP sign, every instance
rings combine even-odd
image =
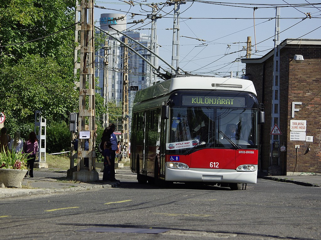
[[[172,107],[167,150],[186,154],[202,148],[257,148],[257,110]]]

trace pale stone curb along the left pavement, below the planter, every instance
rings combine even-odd
[[[118,184],[111,183],[111,184],[104,184],[104,185],[79,186],[79,187],[59,188],[59,189],[25,189],[26,191],[20,190],[20,192],[2,193],[2,194],[0,193],[0,199],[11,198],[11,197],[52,194],[52,193],[75,192],[75,191],[90,190],[90,189],[96,189],[96,188],[115,188],[118,185],[119,185],[119,183]],[[18,189],[24,189],[24,188],[18,188]]]

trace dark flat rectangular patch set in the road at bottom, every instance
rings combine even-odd
[[[86,228],[82,230],[76,230],[76,232],[159,234],[168,232],[169,230],[170,229],[161,228]]]

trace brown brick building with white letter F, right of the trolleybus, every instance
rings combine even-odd
[[[321,40],[285,39],[280,46],[280,151],[270,159],[273,84],[272,50],[261,58],[242,59],[259,103],[265,105],[265,124],[259,126],[259,169],[276,165],[282,175],[321,172]],[[297,63],[294,55],[302,55]],[[301,104],[300,104],[301,103]],[[293,117],[294,115],[294,117]],[[291,121],[292,120],[292,121]],[[303,121],[302,121],[303,120]],[[306,122],[304,121],[306,120]],[[297,132],[298,131],[298,132]],[[297,135],[296,135],[297,134]],[[299,148],[297,145],[299,145]]]

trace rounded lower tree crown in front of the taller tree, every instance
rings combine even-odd
[[[68,69],[49,57],[27,55],[15,66],[3,68],[0,82],[0,105],[9,121],[33,120],[39,109],[46,118],[61,119],[77,105]]]

